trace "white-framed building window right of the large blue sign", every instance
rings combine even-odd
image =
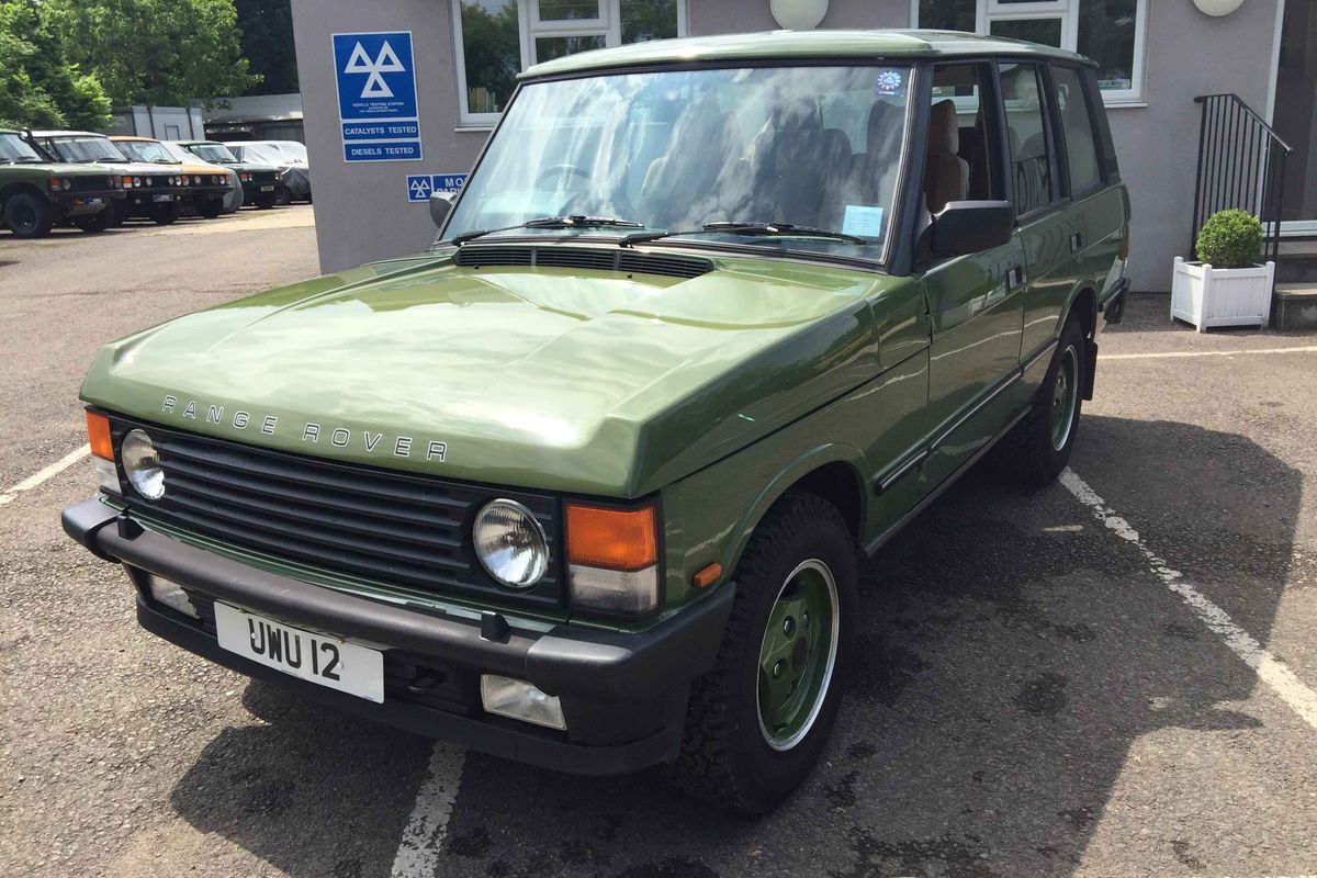
[[[493,125],[544,61],[686,33],[686,0],[450,0],[464,125]]]

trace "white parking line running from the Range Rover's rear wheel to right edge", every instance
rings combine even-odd
[[[1148,562],[1152,574],[1189,606],[1189,609],[1198,617],[1198,621],[1221,637],[1225,645],[1230,648],[1230,652],[1238,656],[1245,665],[1254,669],[1258,679],[1270,686],[1280,696],[1280,700],[1288,704],[1295,713],[1299,713],[1305,723],[1317,729],[1317,692],[1299,679],[1284,662],[1263,649],[1262,644],[1254,640],[1249,632],[1234,624],[1230,616],[1226,615],[1226,611],[1212,603],[1197,588],[1184,582],[1180,571],[1172,570],[1164,558],[1148,549],[1147,544],[1139,537],[1139,532],[1129,521],[1115,515],[1115,511],[1106,505],[1106,502],[1084,479],[1079,478],[1073,470],[1067,467],[1062,473],[1060,480],[1080,503],[1092,509],[1093,516],[1105,524],[1108,529],[1122,540],[1138,546],[1138,550]]]

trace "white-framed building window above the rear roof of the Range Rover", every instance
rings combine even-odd
[[[1143,97],[1148,0],[911,0],[915,26],[1029,39],[1088,55],[1108,104]]]

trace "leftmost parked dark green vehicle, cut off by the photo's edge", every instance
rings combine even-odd
[[[0,130],[0,228],[43,238],[61,224],[104,232],[122,199],[119,176],[94,165],[55,165],[14,130]]]

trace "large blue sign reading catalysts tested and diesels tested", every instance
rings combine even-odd
[[[344,159],[421,161],[411,32],[337,33],[333,62]]]

